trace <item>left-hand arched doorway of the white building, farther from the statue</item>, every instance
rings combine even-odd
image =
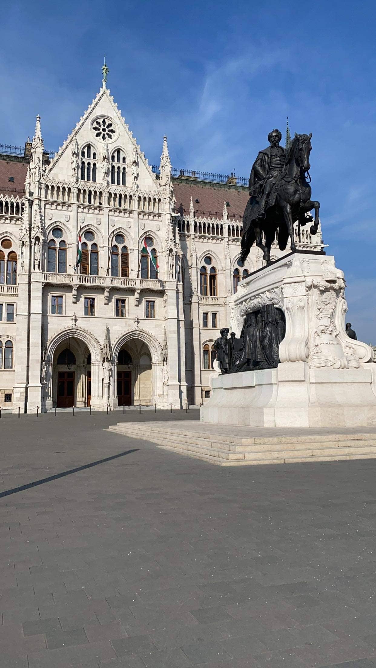
[[[84,407],[91,401],[91,355],[84,341],[62,341],[52,360],[52,404],[58,408]]]

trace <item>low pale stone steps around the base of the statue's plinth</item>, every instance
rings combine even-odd
[[[359,428],[353,430],[354,433],[350,433],[351,430],[320,429],[314,434],[308,429],[263,430],[202,422],[119,422],[110,426],[109,431],[151,441],[165,450],[219,466],[376,458],[376,428],[365,431]],[[250,437],[250,434],[254,436]]]

